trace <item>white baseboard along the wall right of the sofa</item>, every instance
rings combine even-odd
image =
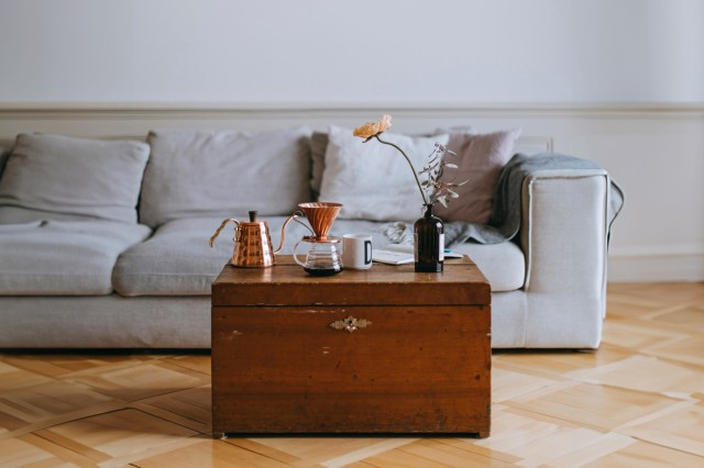
[[[704,253],[609,256],[608,281],[704,281]]]

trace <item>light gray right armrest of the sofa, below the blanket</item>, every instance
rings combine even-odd
[[[603,169],[543,170],[524,180],[526,347],[598,347],[606,307],[608,187]]]

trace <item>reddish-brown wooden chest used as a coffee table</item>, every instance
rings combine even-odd
[[[374,264],[316,278],[292,257],[212,285],[212,431],[490,434],[490,285]]]

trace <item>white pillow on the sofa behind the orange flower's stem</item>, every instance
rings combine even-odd
[[[340,218],[372,221],[415,221],[422,214],[422,199],[413,171],[397,149],[374,140],[364,143],[352,130],[331,126],[328,134],[320,200],[342,203]],[[384,133],[402,147],[420,170],[436,142],[448,135],[410,137]]]

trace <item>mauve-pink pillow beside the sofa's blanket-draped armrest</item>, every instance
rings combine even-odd
[[[444,129],[437,132],[444,133]],[[451,132],[448,149],[458,155],[446,155],[446,160],[459,167],[446,170],[442,179],[458,183],[469,181],[457,187],[460,198],[452,199],[448,208],[437,204],[435,214],[446,221],[486,224],[492,215],[494,187],[514,155],[514,145],[520,133],[521,129],[486,134]]]

